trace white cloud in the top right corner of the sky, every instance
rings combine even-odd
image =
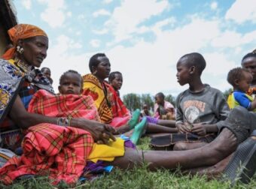
[[[225,18],[236,23],[251,21],[256,23],[256,3],[254,0],[236,0],[227,10]]]

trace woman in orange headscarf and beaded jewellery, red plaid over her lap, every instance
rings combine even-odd
[[[11,169],[15,171],[17,166],[19,166],[20,169],[17,169],[18,172],[16,173],[13,172],[13,178],[22,173],[25,174],[27,170],[31,170],[34,174],[38,170],[49,168],[49,166],[45,166],[44,163],[48,162],[50,165],[50,163],[54,163],[54,160],[45,159],[49,156],[49,154],[45,156],[45,151],[42,149],[45,147],[45,142],[48,142],[48,145],[52,146],[51,142],[53,141],[62,142],[64,139],[72,139],[72,142],[69,141],[69,143],[72,144],[70,148],[72,148],[73,152],[66,151],[66,153],[75,153],[77,160],[74,159],[73,155],[65,156],[65,151],[63,153],[55,151],[55,153],[56,155],[62,155],[62,157],[59,157],[59,160],[66,162],[66,166],[61,166],[61,163],[59,163],[62,167],[59,168],[62,173],[58,178],[68,182],[74,181],[84,169],[84,160],[86,160],[85,157],[89,156],[93,148],[93,141],[107,143],[110,138],[115,140],[112,135],[114,129],[107,124],[101,124],[98,121],[91,121],[85,118],[67,118],[64,115],[59,118],[29,113],[27,108],[35,92],[39,89],[44,89],[53,94],[49,80],[47,80],[38,69],[35,69],[35,67],[38,68],[41,66],[41,63],[47,56],[47,34],[41,30],[41,28],[26,24],[14,26],[8,31],[8,34],[13,42],[13,47],[5,52],[2,56],[3,59],[0,59],[0,127],[2,146],[15,151],[20,147],[20,141],[23,139],[22,130],[26,130],[27,135],[23,142],[23,155],[21,156],[23,161],[20,161],[17,157],[13,157],[8,164],[5,164],[5,167],[1,169],[2,180],[6,183],[10,183],[13,179],[6,174],[11,172]],[[88,110],[96,111],[93,101],[87,101],[87,107]],[[32,127],[34,125],[36,126]],[[71,127],[59,127],[58,125],[69,125]],[[53,138],[47,138],[45,135],[47,133],[58,134],[54,137],[52,136]],[[69,133],[69,137],[65,138],[62,136],[64,133]],[[47,141],[37,143],[37,137],[39,139],[47,139]],[[83,145],[79,147],[78,144],[81,144],[81,142]],[[86,148],[83,147],[84,145]],[[24,148],[24,146],[29,148]],[[39,148],[38,146],[41,147]],[[60,145],[56,145],[55,147],[60,148]],[[11,151],[6,151],[4,148],[1,148],[2,164],[4,164],[9,157],[14,155]],[[32,148],[34,150],[32,150]],[[35,151],[38,150],[39,154],[42,153],[41,156],[37,153],[36,158],[33,159]],[[40,150],[42,151],[40,152]],[[70,159],[70,157],[72,157],[72,159]],[[32,160],[29,158],[32,158]],[[36,162],[34,162],[34,160],[36,160]],[[26,166],[29,166],[29,162],[33,162],[34,169],[26,169],[25,171],[22,168],[25,166],[23,165],[24,162]],[[73,168],[71,168],[71,166]],[[53,169],[51,173],[55,174],[56,169]],[[59,174],[58,171],[57,173]],[[69,175],[66,175],[68,173]]]

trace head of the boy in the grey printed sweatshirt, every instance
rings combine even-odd
[[[178,83],[184,86],[193,81],[194,77],[201,77],[203,70],[206,68],[206,60],[198,52],[183,55],[177,63]]]

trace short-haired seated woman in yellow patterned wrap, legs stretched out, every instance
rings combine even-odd
[[[116,127],[117,132],[119,133],[125,133],[131,130],[133,127],[136,127],[140,112],[139,110],[136,110],[136,116],[134,116],[133,113],[133,117],[130,120],[128,116],[119,116],[116,112],[113,111],[114,109],[112,109],[112,107],[115,106],[115,104],[118,104],[117,99],[112,98],[116,95],[111,95],[111,87],[108,85],[108,83],[105,82],[105,79],[108,78],[111,71],[110,67],[111,65],[108,57],[103,53],[97,53],[90,58],[89,68],[92,74],[86,74],[83,77],[83,95],[92,96],[102,122]],[[142,118],[142,122],[140,122],[139,124],[145,124],[147,133],[177,132],[176,128],[163,127],[154,123],[146,123],[145,120],[145,118]],[[142,126],[140,128],[142,128]],[[138,130],[135,129],[135,131],[137,132]],[[132,138],[133,142],[138,141],[139,136],[142,133],[141,130],[139,130],[138,133],[139,134],[136,139]]]

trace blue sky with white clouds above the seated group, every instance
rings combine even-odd
[[[227,72],[256,48],[254,0],[14,0],[19,23],[39,26],[50,39],[42,67],[53,86],[73,69],[88,74],[90,56],[105,52],[111,71],[123,73],[121,95],[178,95],[178,58],[206,58],[203,83],[229,89]]]

